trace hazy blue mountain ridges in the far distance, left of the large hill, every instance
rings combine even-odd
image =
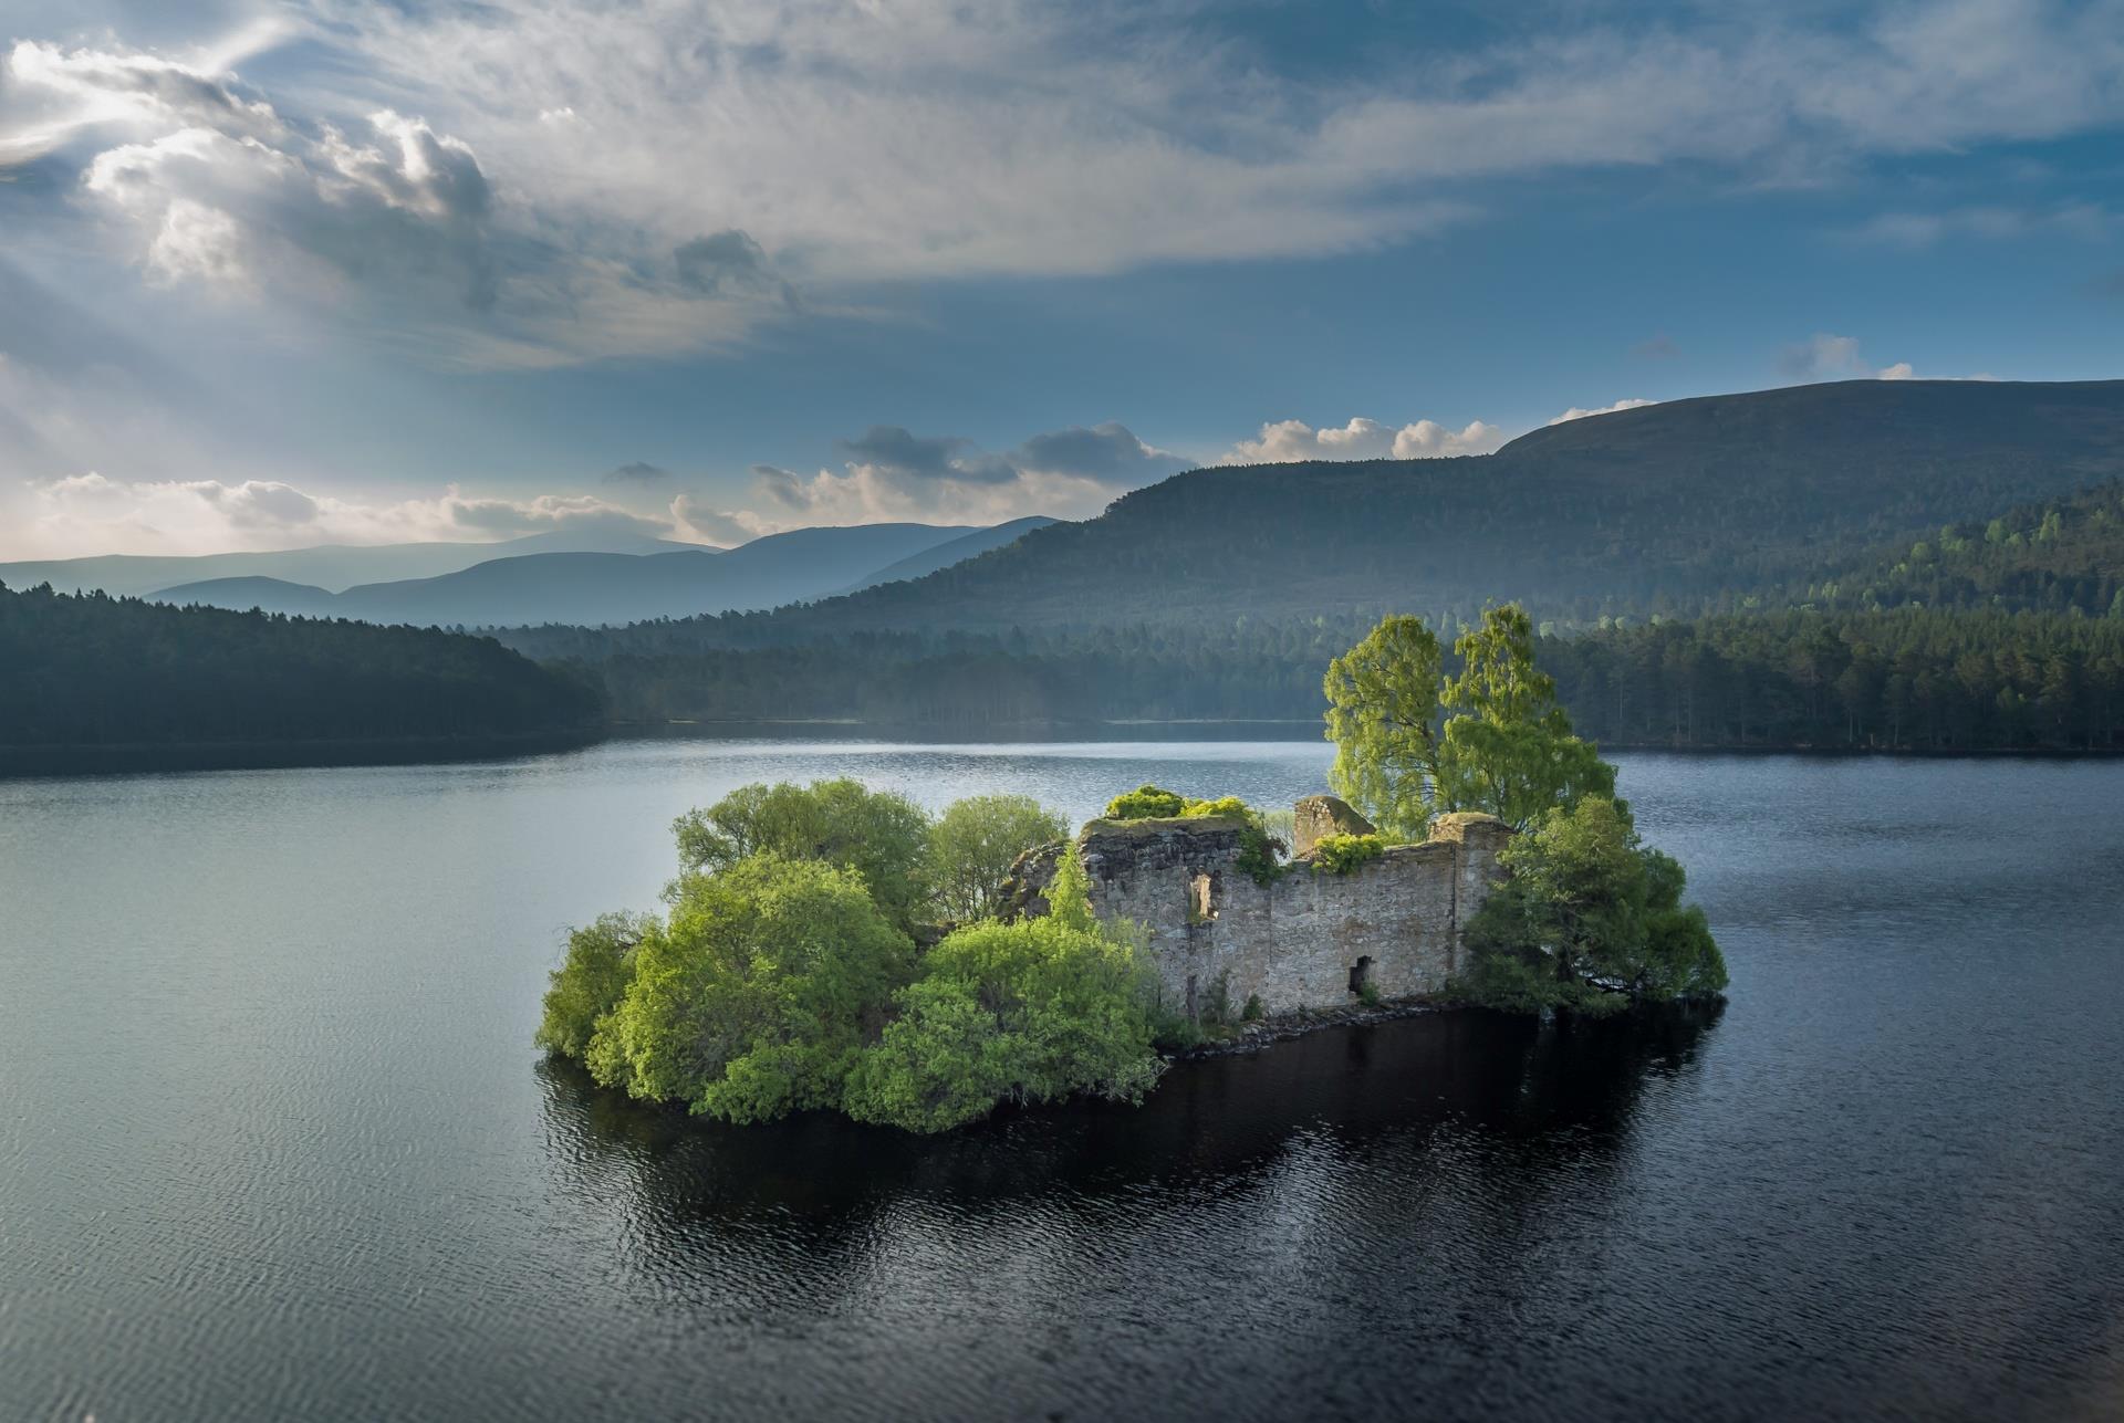
[[[238,573],[161,586],[149,597],[164,603],[261,607],[387,624],[603,627],[782,607],[850,586],[913,578],[1009,544],[1049,522],[1054,520],[1020,518],[992,529],[964,525],[794,529],[731,550],[635,539],[633,546],[610,552],[537,552],[525,550],[525,542],[518,539],[499,546],[510,548],[510,556],[431,578],[355,584],[338,593],[285,578]],[[0,578],[6,578],[4,569]]]

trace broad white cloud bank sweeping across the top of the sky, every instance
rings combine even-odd
[[[310,0],[185,53],[17,42],[0,166],[91,174],[164,280],[531,365],[729,342],[879,280],[1361,251],[1474,219],[1497,176],[1808,183],[2124,121],[2120,0],[1812,15],[1591,11],[1361,76],[1185,4]],[[270,96],[232,74],[285,40]],[[2026,221],[2109,219],[1873,236]]]

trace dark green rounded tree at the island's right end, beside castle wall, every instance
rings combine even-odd
[[[1517,1013],[1612,1013],[1631,1000],[1716,994],[1725,958],[1682,867],[1646,850],[1629,809],[1585,796],[1548,809],[1504,850],[1510,879],[1468,922],[1476,1002]]]

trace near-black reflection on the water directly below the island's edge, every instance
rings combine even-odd
[[[1332,1028],[1268,1051],[1175,1064],[1143,1107],[1007,1111],[943,1138],[811,1113],[729,1128],[597,1087],[537,1062],[548,1141],[584,1200],[633,1194],[644,1219],[830,1221],[879,1196],[922,1194],[1011,1211],[1028,1196],[1096,1198],[1151,1183],[1238,1183],[1315,1134],[1366,1149],[1383,1134],[1570,1134],[1576,1155],[1616,1151],[1648,1081],[1689,1070],[1723,1005],[1604,1022],[1455,1011]],[[850,1170],[850,1160],[862,1170]]]

